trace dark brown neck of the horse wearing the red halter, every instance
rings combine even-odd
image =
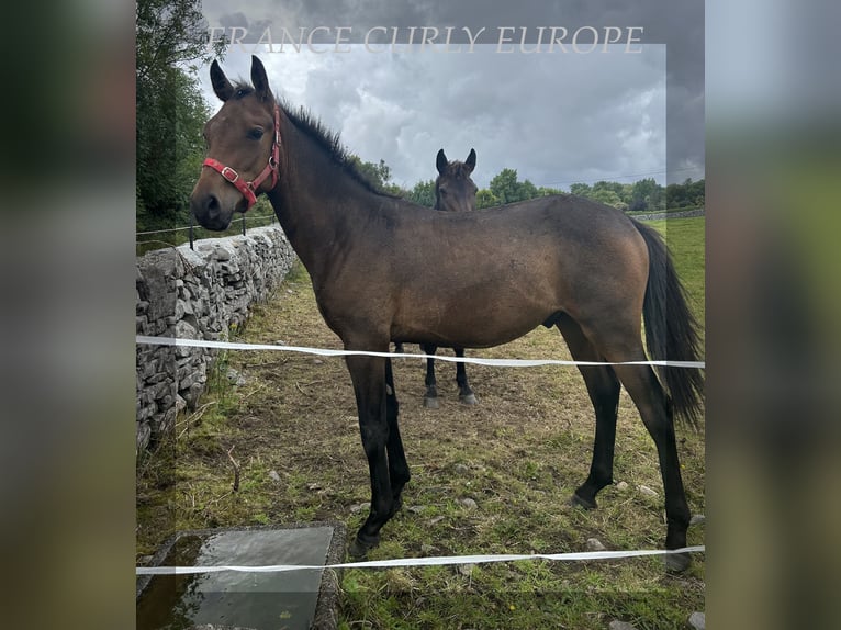
[[[336,248],[355,237],[382,198],[356,181],[291,122],[281,138],[281,175],[269,201],[290,244],[317,281],[335,259]]]

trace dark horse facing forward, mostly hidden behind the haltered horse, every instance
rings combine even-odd
[[[472,212],[476,209],[476,184],[470,178],[476,166],[476,151],[470,149],[468,159],[463,162],[449,161],[444,149],[435,156],[435,168],[438,177],[435,180],[435,210],[440,212]],[[420,349],[430,358],[426,360],[426,393],[424,393],[424,407],[438,408],[438,382],[435,379],[435,352],[438,347],[435,344],[422,344]],[[456,357],[464,357],[464,348],[453,348]],[[464,363],[456,363],[456,384],[459,387],[459,401],[466,405],[475,405],[476,396],[468,382],[468,372]]]

